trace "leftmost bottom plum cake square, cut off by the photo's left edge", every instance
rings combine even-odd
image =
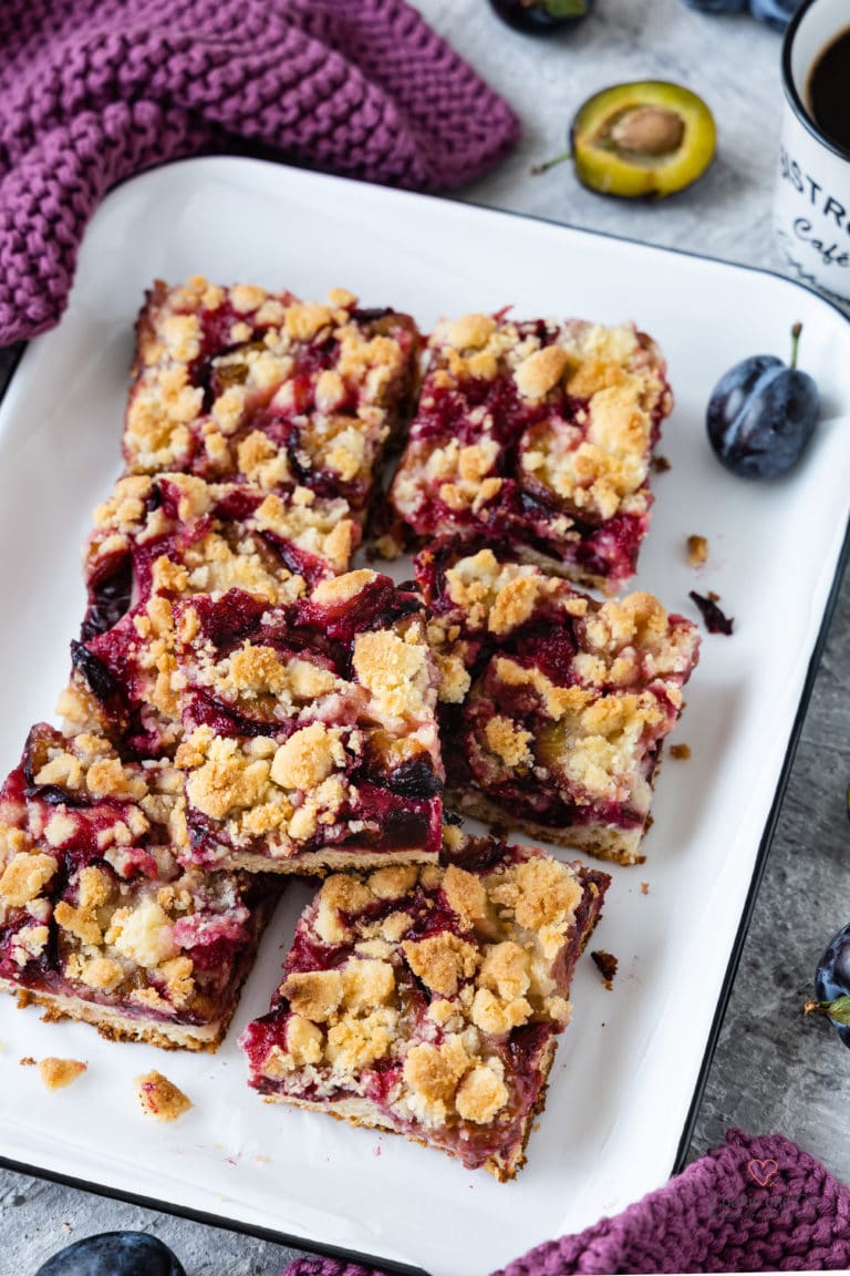
[[[103,1036],[214,1050],[278,879],[182,868],[180,776],[33,727],[0,790],[0,988]]]

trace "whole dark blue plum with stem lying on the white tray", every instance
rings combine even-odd
[[[802,325],[791,329],[791,362],[753,355],[720,378],[709,399],[709,440],[742,478],[775,478],[800,459],[814,433],[818,388],[796,367]]]

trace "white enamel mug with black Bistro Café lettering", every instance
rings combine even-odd
[[[850,151],[818,130],[809,112],[808,80],[821,52],[847,27],[850,0],[805,0],[785,32],[774,211],[786,264],[803,283],[845,308],[850,308]]]

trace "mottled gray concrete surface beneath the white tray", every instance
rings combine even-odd
[[[524,121],[519,149],[464,193],[466,198],[777,267],[770,235],[780,117],[777,36],[744,18],[695,14],[681,0],[596,0],[590,20],[552,42],[511,33],[486,0],[419,0],[418,6]],[[584,97],[640,78],[683,82],[711,103],[720,152],[696,188],[666,204],[631,208],[582,190],[568,167],[529,176],[533,162],[562,149],[568,120]],[[8,365],[9,353],[0,351],[0,370],[4,359]],[[700,1155],[729,1125],[779,1131],[847,1182],[850,1055],[825,1025],[804,1022],[800,1005],[823,944],[850,914],[844,804],[850,777],[849,651],[845,586],[691,1147],[692,1156]],[[683,990],[687,980],[683,970]],[[189,1276],[274,1276],[291,1257],[259,1240],[0,1173],[0,1273],[33,1276],[70,1239],[116,1228],[162,1236]]]

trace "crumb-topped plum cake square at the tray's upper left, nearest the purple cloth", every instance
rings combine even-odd
[[[180,470],[265,491],[301,484],[366,516],[418,376],[409,315],[254,285],[157,282],[136,325],[124,450],[131,473]]]

